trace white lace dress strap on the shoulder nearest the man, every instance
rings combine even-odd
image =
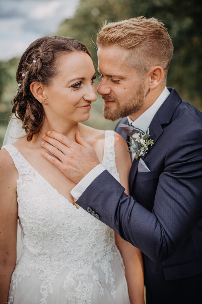
[[[120,182],[115,160],[114,133],[115,132],[112,130],[105,131],[104,155],[102,165],[111,173],[111,175],[114,176],[114,178]]]

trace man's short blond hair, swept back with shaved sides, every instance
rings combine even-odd
[[[144,75],[153,66],[161,66],[164,79],[173,55],[173,44],[164,24],[143,16],[119,22],[105,22],[97,34],[100,48],[119,47],[129,51],[127,63]]]

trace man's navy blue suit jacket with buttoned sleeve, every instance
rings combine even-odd
[[[77,201],[144,253],[147,300],[155,304],[175,303],[163,298],[171,281],[179,292],[177,283],[202,275],[202,113],[169,91],[149,126],[154,145],[142,157],[151,171],[138,172],[133,161],[131,196],[105,170]]]

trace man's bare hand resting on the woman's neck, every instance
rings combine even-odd
[[[44,134],[41,146],[48,150],[42,156],[54,164],[69,179],[78,183],[88,172],[100,164],[95,150],[76,133],[77,142],[55,131]]]

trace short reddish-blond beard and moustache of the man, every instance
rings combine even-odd
[[[111,109],[110,105],[105,104],[103,107],[104,118],[115,121],[119,118],[134,114],[142,107],[145,98],[145,86],[140,84],[136,92],[130,98],[121,102],[116,96],[110,94],[101,96],[104,100],[116,102],[116,109]]]

